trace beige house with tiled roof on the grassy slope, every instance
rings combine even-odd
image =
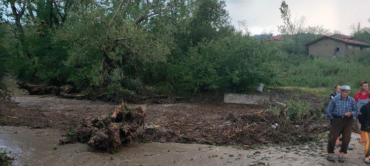
[[[359,57],[370,55],[370,44],[348,38],[323,36],[305,45],[309,55],[321,57]]]

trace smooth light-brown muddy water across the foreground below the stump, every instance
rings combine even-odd
[[[181,143],[131,143],[114,154],[93,152],[86,144],[58,145],[59,131],[0,127],[0,146],[14,165],[316,165],[323,157],[282,147],[241,150],[231,146]],[[303,148],[303,147],[302,147]],[[301,148],[301,149],[302,149]],[[297,148],[299,150],[299,148]],[[311,159],[310,163],[306,163]]]

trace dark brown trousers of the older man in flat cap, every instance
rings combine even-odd
[[[336,138],[342,134],[342,146],[339,152],[347,153],[349,141],[351,141],[353,117],[334,117],[330,126],[328,153],[334,153]]]

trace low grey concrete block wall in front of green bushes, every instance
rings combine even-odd
[[[256,94],[225,93],[223,96],[224,103],[263,105],[268,101],[268,97]]]

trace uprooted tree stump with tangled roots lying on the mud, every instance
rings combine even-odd
[[[83,127],[70,132],[66,139],[60,140],[60,144],[81,142],[103,150],[114,150],[138,135],[144,117],[145,107],[131,109],[122,102],[111,116],[85,119]]]

